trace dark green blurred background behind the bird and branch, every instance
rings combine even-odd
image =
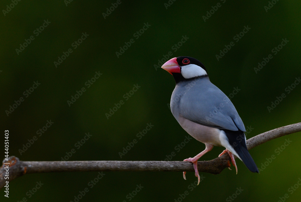
[[[1,10],[11,3],[3,0]],[[4,148],[4,130],[9,130],[10,156],[23,161],[60,161],[72,149],[76,152],[68,159],[71,161],[160,161],[172,152],[176,154],[172,161],[182,161],[197,155],[205,146],[195,139],[182,149],[176,147],[188,134],[168,107],[175,82],[168,72],[154,66],[160,60],[164,62],[169,51],[169,58],[199,59],[211,82],[226,95],[240,89],[231,101],[246,128],[253,128],[247,138],[300,122],[301,85],[290,93],[286,91],[301,75],[299,1],[278,1],[266,12],[268,1],[169,1],[172,4],[166,6],[167,0],[125,0],[104,18],[112,3],[116,6],[116,1],[20,1],[9,12],[2,11],[0,143]],[[214,13],[204,21],[210,10]],[[34,30],[44,20],[51,23],[36,36]],[[137,38],[134,33],[144,23],[150,26]],[[251,29],[237,42],[233,37],[244,26]],[[89,36],[74,49],[72,43],[82,33]],[[16,49],[32,35],[35,39],[17,54]],[[175,49],[182,36],[189,39]],[[135,42],[117,57],[119,47],[131,39]],[[289,42],[274,55],[272,49],[282,39]],[[231,41],[235,45],[218,61],[216,54]],[[73,52],[56,67],[54,61],[70,48]],[[254,67],[269,54],[273,58],[256,73]],[[95,82],[88,88],[85,83],[95,72],[102,75],[92,79]],[[23,92],[36,81],[41,84],[26,98]],[[134,85],[141,87],[127,99],[124,95]],[[83,87],[86,91],[69,107],[67,101]],[[282,93],[286,97],[269,112],[267,107]],[[5,111],[20,97],[24,101],[7,116]],[[120,100],[124,104],[107,119],[105,114]],[[47,120],[52,125],[37,135],[37,130],[46,129]],[[137,138],[147,123],[154,126]],[[76,146],[85,133],[92,136]],[[3,201],[21,201],[24,197],[28,201],[74,201],[74,196],[88,188],[79,201],[232,201],[232,195],[235,201],[278,201],[285,194],[287,201],[299,201],[301,188],[295,186],[293,193],[290,190],[301,177],[298,135],[284,136],[250,151],[257,166],[264,168],[260,174],[251,173],[238,160],[237,175],[228,169],[220,175],[202,173],[203,181],[193,190],[191,183],[197,178],[192,172],[187,173],[186,181],[182,172],[104,172],[93,188],[88,183],[97,172],[47,173],[17,178],[9,183],[9,199],[3,189],[0,197]],[[21,155],[23,144],[33,136],[37,140]],[[138,143],[120,158],[119,152],[133,139]],[[286,139],[292,142],[282,150]],[[214,159],[223,149],[215,147],[201,160]],[[268,163],[272,155],[276,158]],[[266,167],[262,167],[264,163]],[[37,181],[43,183],[42,187],[26,195]],[[128,194],[137,184],[143,188],[132,198]]]

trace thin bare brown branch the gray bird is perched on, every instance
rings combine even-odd
[[[301,123],[276,128],[261,133],[247,140],[248,149],[253,149],[272,139],[301,131]],[[8,161],[3,160],[0,168],[0,189],[6,181],[25,175],[26,173],[45,172],[87,172],[87,171],[176,171],[194,172],[192,163],[184,161],[20,161],[17,157],[11,156]],[[10,163],[10,164],[5,164]],[[9,165],[8,177],[6,167]],[[230,167],[228,154],[222,155],[210,161],[199,161],[199,172],[219,174],[225,168]]]

